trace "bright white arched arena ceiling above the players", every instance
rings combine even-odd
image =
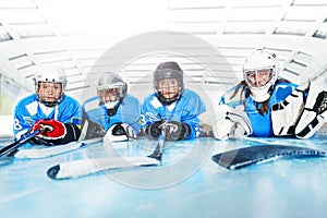
[[[198,62],[202,58],[232,84],[241,77],[245,57],[263,47],[277,55],[281,75],[292,82],[326,70],[327,0],[1,0],[0,70],[31,89],[36,65],[61,64],[69,75],[68,92],[80,95],[89,72],[116,64],[111,48],[158,31],[191,34],[219,53],[207,59],[207,46],[194,47],[194,61],[192,55],[185,58],[192,46],[182,40],[172,46],[178,55],[162,52],[167,49],[156,41],[137,58],[125,48],[117,56],[128,57],[120,70],[132,84],[142,84],[162,59],[178,60],[195,82],[215,84]]]

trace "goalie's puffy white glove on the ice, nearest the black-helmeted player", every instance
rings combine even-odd
[[[241,108],[220,105],[216,109],[216,122],[213,125],[217,140],[242,138],[252,134],[251,122]]]

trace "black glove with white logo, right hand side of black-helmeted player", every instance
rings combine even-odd
[[[167,141],[178,141],[186,138],[191,133],[191,128],[186,123],[178,121],[165,122],[160,125],[161,130],[165,130]]]

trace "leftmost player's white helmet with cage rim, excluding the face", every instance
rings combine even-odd
[[[66,75],[63,71],[63,69],[59,65],[43,65],[37,69],[37,72],[34,76],[34,85],[35,85],[35,92],[37,94],[38,100],[43,104],[45,104],[48,107],[53,107],[61,102],[64,90],[66,87]],[[48,82],[48,83],[58,83],[61,84],[61,95],[57,100],[53,101],[47,101],[44,100],[38,95],[39,84],[41,82]]]

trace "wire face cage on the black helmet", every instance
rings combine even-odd
[[[173,80],[177,81],[178,84],[173,84]],[[167,83],[165,83],[167,81]],[[164,87],[159,86],[159,83],[164,82]],[[183,83],[183,71],[179,70],[171,70],[171,69],[164,69],[164,70],[157,70],[154,73],[154,88],[155,88],[155,94],[157,98],[166,105],[170,105],[178,99],[180,99],[181,94],[183,93],[184,89],[184,83]],[[172,92],[177,92],[174,96],[171,97],[165,97],[162,95],[164,89],[170,89]]]

